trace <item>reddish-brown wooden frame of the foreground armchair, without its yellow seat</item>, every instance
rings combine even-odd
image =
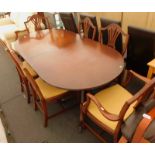
[[[143,80],[146,84],[145,86],[139,91],[137,92],[131,99],[129,99],[128,101],[126,101],[124,103],[124,106],[122,107],[119,115],[115,115],[112,114],[110,112],[108,112],[103,106],[102,104],[97,100],[97,98],[95,98],[95,96],[91,95],[91,94],[87,94],[87,100],[86,102],[84,102],[83,104],[80,105],[80,122],[81,125],[83,127],[87,127],[93,134],[95,134],[101,141],[105,142],[105,139],[103,137],[101,137],[94,129],[92,129],[87,122],[85,122],[84,117],[87,116],[89,117],[93,122],[96,123],[96,125],[98,125],[100,128],[102,128],[104,131],[106,131],[108,134],[113,136],[113,142],[118,142],[118,136],[120,133],[120,129],[121,129],[121,125],[124,122],[124,116],[127,112],[127,110],[129,109],[129,107],[135,102],[137,101],[136,105],[134,106],[134,108],[136,108],[138,105],[140,105],[144,100],[146,100],[146,96],[150,95],[153,90],[154,90],[154,86],[155,86],[155,79],[153,79],[152,81],[138,75],[133,72],[133,71],[129,71],[129,79],[131,79],[132,77],[137,77],[140,78],[140,80]],[[125,81],[124,85],[126,85],[129,82],[129,79],[127,79],[127,81]],[[91,115],[89,113],[89,111],[87,110],[90,101],[93,101],[94,104],[97,105],[98,110],[100,111],[100,113],[103,115],[103,117],[105,117],[106,119],[110,120],[110,121],[117,121],[117,126],[115,128],[115,130],[113,131],[111,128],[109,128],[107,125],[103,124],[102,122],[100,122],[99,120],[97,120],[93,115]]]

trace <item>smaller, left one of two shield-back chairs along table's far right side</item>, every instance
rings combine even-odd
[[[79,22],[79,32],[83,31],[85,38],[95,39],[96,27],[91,22],[90,18],[86,17]]]

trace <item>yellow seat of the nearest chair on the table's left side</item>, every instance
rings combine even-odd
[[[67,92],[67,90],[65,90],[65,89],[56,88],[56,87],[53,87],[53,86],[47,84],[41,78],[37,78],[35,81],[36,81],[38,87],[40,88],[40,91],[43,94],[43,97],[46,100],[54,98],[59,95],[62,95]]]

